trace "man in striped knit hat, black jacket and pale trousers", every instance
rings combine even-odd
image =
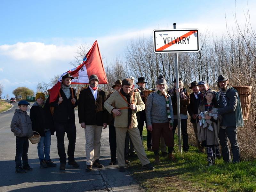
[[[101,168],[100,158],[100,138],[103,129],[107,127],[108,114],[104,110],[106,94],[98,88],[99,78],[91,75],[90,86],[81,90],[78,102],[78,117],[81,127],[85,132],[86,165],[85,171],[92,171],[92,165]]]

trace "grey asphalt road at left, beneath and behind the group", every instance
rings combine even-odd
[[[28,163],[33,171],[24,174],[15,173],[15,136],[11,132],[10,123],[17,103],[14,107],[0,114],[0,191],[144,191],[133,180],[129,172],[119,172],[118,165],[109,166],[110,149],[108,143],[108,128],[103,130],[101,138],[100,162],[104,164],[102,169],[93,169],[85,172],[85,136],[84,129],[80,127],[76,113],[76,150],[75,160],[80,164],[75,169],[67,164],[65,171],[60,171],[60,161],[57,153],[56,135],[52,135],[51,159],[57,163],[57,167],[46,169],[39,168],[37,156],[37,144],[29,142]],[[30,107],[28,107],[28,114]],[[68,139],[65,138],[67,151]]]

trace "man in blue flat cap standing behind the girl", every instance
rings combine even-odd
[[[199,105],[201,104],[201,101],[204,100],[204,94],[206,91],[213,91],[216,93],[216,91],[212,90],[211,88],[209,88],[208,84],[206,83],[206,81],[199,81],[198,82],[198,88],[199,88],[199,91],[200,93],[198,94],[198,100],[197,100],[197,110],[198,110],[198,107]],[[220,147],[212,147],[212,151],[213,151],[213,157],[214,159],[216,157],[220,158],[221,157],[221,154],[220,154]]]

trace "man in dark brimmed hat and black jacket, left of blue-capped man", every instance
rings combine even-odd
[[[188,88],[192,89],[193,91],[192,93],[189,94],[190,101],[188,104],[188,114],[190,115],[190,122],[192,123],[193,129],[195,132],[197,148],[199,152],[204,153],[204,147],[201,146],[201,142],[198,141],[198,138],[197,138],[197,127],[196,127],[196,116],[198,113],[197,100],[198,100],[198,94],[200,93],[200,91],[196,81],[193,81],[191,83],[191,86]]]

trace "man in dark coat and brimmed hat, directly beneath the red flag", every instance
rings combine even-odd
[[[77,106],[78,100],[75,89],[70,87],[72,79],[74,79],[74,77],[70,76],[69,73],[62,76],[59,96],[50,104],[51,107],[54,107],[53,120],[57,137],[58,154],[60,156],[60,170],[65,170],[66,168],[67,156],[64,146],[65,132],[68,137],[68,164],[76,168],[79,167],[79,164],[76,163],[74,158],[76,146],[74,108]]]

